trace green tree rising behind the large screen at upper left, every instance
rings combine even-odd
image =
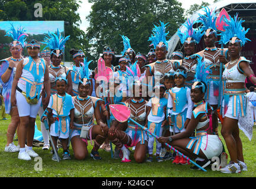
[[[65,47],[65,61],[72,61],[70,48],[82,49],[90,56],[85,32],[80,30],[80,17],[77,13],[80,1],[77,0],[0,0],[0,19],[4,21],[64,21],[64,34],[70,35]],[[43,6],[43,17],[34,17],[34,5]],[[38,28],[40,29],[40,28]],[[89,57],[90,59],[90,57]]]

